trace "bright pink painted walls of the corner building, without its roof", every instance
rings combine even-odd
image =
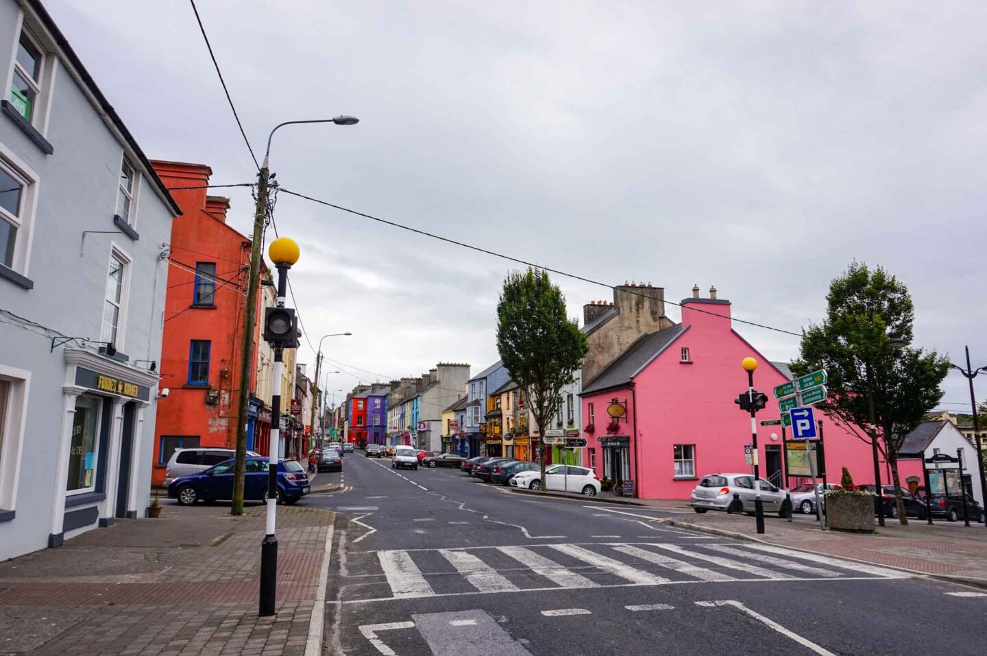
[[[685,332],[635,378],[633,396],[627,392],[617,395],[638,404],[637,426],[633,425],[633,406],[628,408],[631,420],[627,432],[633,436],[637,431],[637,453],[634,440],[631,441],[632,477],[637,475],[636,487],[643,498],[688,498],[696,486],[696,478],[675,479],[673,475],[673,447],[676,444],[695,445],[697,476],[751,470],[745,465],[743,455],[744,445],[751,441],[750,415],[733,402],[747,389],[747,373],[740,367],[743,358],[757,358],[760,366],[754,373],[754,387],[770,397],[768,406],[758,413],[758,421],[780,416],[771,391],[774,386],[786,382],[785,377],[733,332],[728,320],[721,319],[729,316],[730,306],[726,303],[711,303],[705,299],[684,301],[682,325],[687,327]],[[680,362],[682,347],[689,348],[691,364]],[[582,400],[583,416],[587,416],[586,404],[595,402],[596,433],[590,437],[589,446],[599,448],[597,438],[606,435],[606,405],[614,396],[613,392],[603,392]],[[845,466],[857,484],[873,482],[870,446],[817,412],[816,419],[820,418],[823,419],[829,480],[839,482],[841,468]],[[621,433],[624,432],[622,426]],[[779,436],[777,442],[771,440],[773,432]],[[781,426],[758,426],[761,475],[764,477],[767,477],[764,447],[766,444],[780,445],[781,432]],[[636,458],[640,459],[638,474],[634,470]],[[601,455],[597,455],[597,474],[602,474],[601,463]],[[885,482],[885,468],[881,470],[881,482]]]

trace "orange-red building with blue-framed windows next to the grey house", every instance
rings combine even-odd
[[[203,186],[212,171],[201,164],[152,162],[169,187]],[[161,349],[161,387],[155,423],[153,483],[177,448],[234,448],[240,392],[251,242],[226,225],[229,199],[205,188],[174,189],[182,216],[172,222]],[[258,294],[258,306],[261,305]],[[255,358],[258,341],[255,332]],[[255,390],[257,367],[247,385]]]

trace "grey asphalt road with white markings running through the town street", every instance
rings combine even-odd
[[[360,451],[342,479],[302,501],[340,513],[326,653],[985,653],[987,596],[669,528],[680,510],[532,498]]]

